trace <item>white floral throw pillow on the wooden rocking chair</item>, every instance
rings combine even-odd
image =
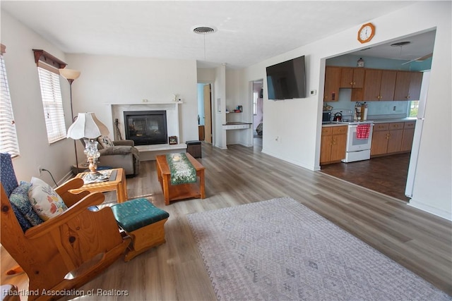
[[[43,221],[59,216],[68,209],[57,192],[40,178],[33,177],[31,179],[28,199],[30,199],[33,209]]]

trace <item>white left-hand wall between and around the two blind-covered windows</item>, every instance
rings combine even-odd
[[[20,148],[20,156],[13,159],[16,177],[18,180],[30,180],[32,176],[36,176],[54,185],[49,173],[39,175],[38,166],[49,170],[55,180],[59,181],[69,173],[71,164],[75,164],[76,155],[71,139],[49,145],[32,49],[44,49],[62,61],[66,61],[66,58],[57,47],[4,11],[1,11],[1,43],[6,45],[4,59]],[[69,128],[69,82],[64,78],[60,82],[66,128]]]

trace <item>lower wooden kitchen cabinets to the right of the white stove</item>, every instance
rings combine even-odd
[[[409,149],[403,148],[403,136],[405,134],[405,144],[410,142],[410,130],[414,135],[414,127],[408,126],[407,133],[404,133],[404,122],[398,123],[376,123],[372,134],[371,156],[381,156],[398,152],[407,152]],[[412,142],[412,136],[411,136]]]

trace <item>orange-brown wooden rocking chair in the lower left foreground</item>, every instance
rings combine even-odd
[[[117,260],[131,242],[119,233],[112,209],[88,209],[102,204],[102,193],[69,192],[82,185],[82,179],[73,178],[59,186],[55,191],[69,209],[23,231],[8,198],[18,186],[11,156],[1,154],[1,245],[28,275],[28,290],[39,292],[28,300],[58,299],[61,295],[42,292],[81,287]]]

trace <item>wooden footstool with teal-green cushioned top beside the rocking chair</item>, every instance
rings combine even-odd
[[[167,211],[155,207],[148,199],[131,199],[114,204],[114,218],[124,232],[132,238],[125,262],[152,247],[165,243],[165,223],[169,217]]]

